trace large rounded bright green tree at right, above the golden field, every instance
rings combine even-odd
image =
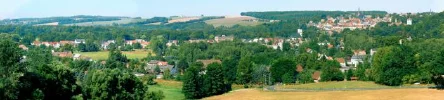
[[[389,46],[378,49],[371,68],[376,83],[398,86],[402,78],[415,71],[413,54],[408,47]]]

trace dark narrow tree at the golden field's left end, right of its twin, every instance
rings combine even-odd
[[[206,96],[219,95],[227,92],[221,64],[211,63],[208,65],[204,77],[203,90],[203,93],[206,93]]]

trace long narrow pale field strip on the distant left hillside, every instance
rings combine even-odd
[[[115,24],[129,24],[133,22],[141,22],[146,19],[134,19],[134,18],[123,18],[116,21],[96,21],[96,22],[83,22],[83,23],[74,23],[74,24],[65,24],[67,26],[110,26]]]

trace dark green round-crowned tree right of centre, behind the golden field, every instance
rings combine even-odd
[[[270,68],[271,77],[273,82],[283,82],[282,79],[286,79],[286,82],[294,83],[296,76],[296,62],[287,58],[280,58],[276,60]],[[286,77],[283,77],[287,74]]]

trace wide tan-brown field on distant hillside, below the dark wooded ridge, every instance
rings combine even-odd
[[[212,19],[212,20],[207,20],[205,21],[205,23],[207,24],[211,24],[214,27],[219,27],[219,26],[226,26],[226,27],[231,27],[233,25],[243,25],[243,26],[255,26],[255,25],[259,25],[262,24],[263,22],[259,22],[259,21],[250,21],[250,20],[256,20],[257,18],[254,17],[250,17],[250,16],[225,16],[225,18],[221,18],[221,19]]]

